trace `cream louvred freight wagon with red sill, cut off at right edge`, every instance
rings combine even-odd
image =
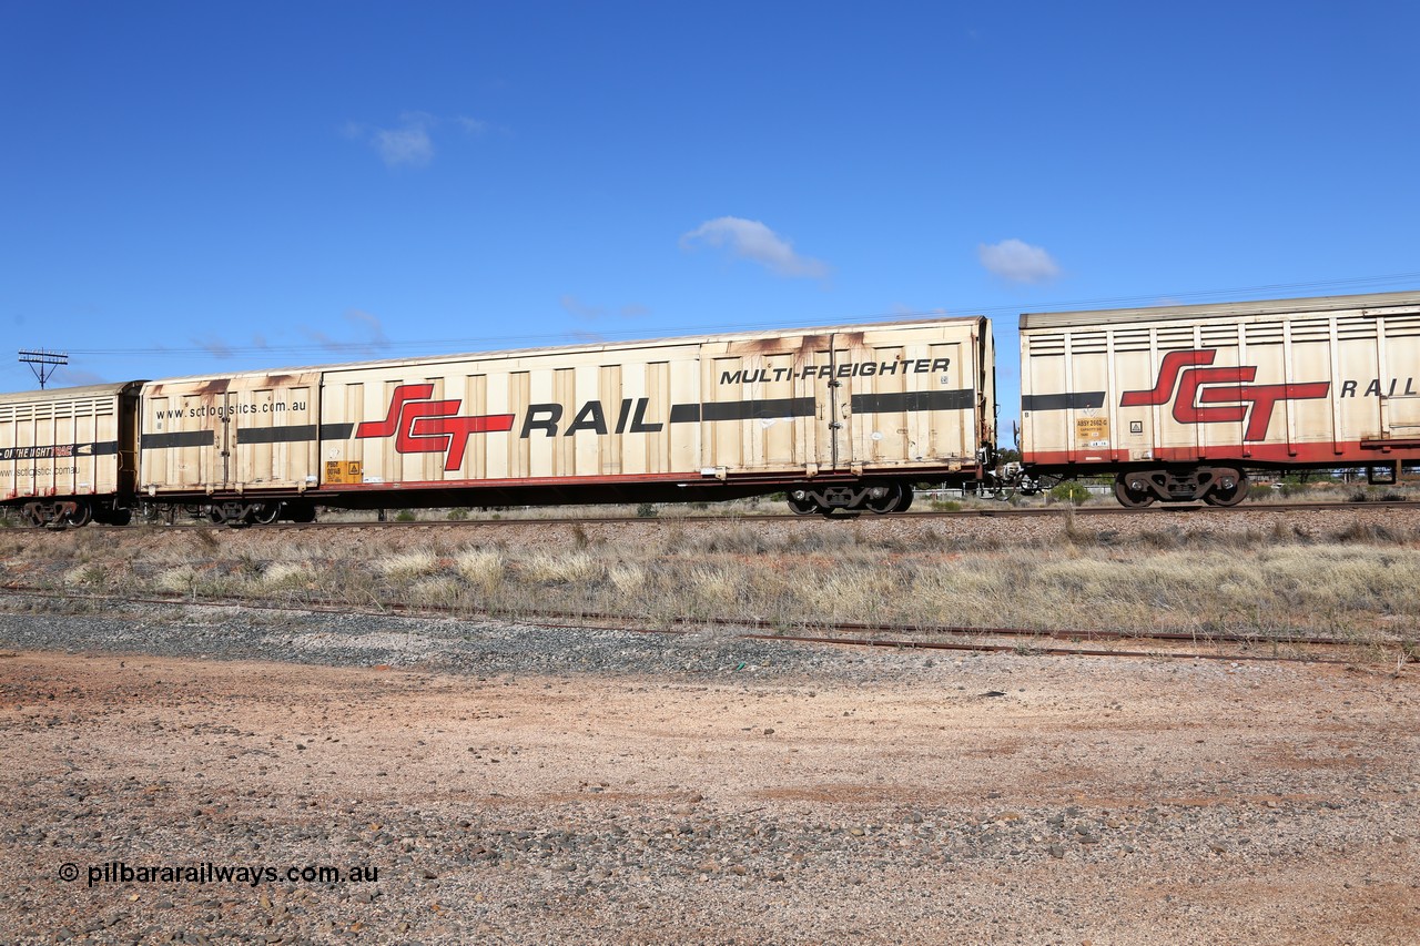
[[[1420,293],[1027,314],[1034,476],[1118,473],[1126,506],[1233,504],[1250,469],[1420,462]]]

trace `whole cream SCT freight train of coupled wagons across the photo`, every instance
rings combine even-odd
[[[1420,293],[1025,314],[998,463],[983,317],[131,381],[0,395],[0,503],[133,510],[665,503],[903,511],[920,483],[1113,476],[1233,506],[1257,470],[1420,463]]]

